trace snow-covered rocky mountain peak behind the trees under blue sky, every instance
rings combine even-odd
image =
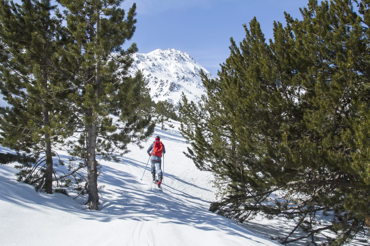
[[[169,100],[176,104],[182,92],[188,100],[198,101],[202,94],[206,94],[199,75],[201,69],[210,79],[215,79],[215,76],[188,53],[175,49],[156,49],[147,54],[136,53],[133,59],[130,73],[143,71],[155,102]]]

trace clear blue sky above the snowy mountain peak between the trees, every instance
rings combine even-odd
[[[230,37],[244,37],[243,24],[254,16],[266,40],[272,37],[273,21],[285,23],[284,11],[302,19],[299,7],[308,0],[126,0],[127,9],[137,4],[137,28],[131,42],[139,53],[176,49],[189,53],[216,75],[229,56]]]

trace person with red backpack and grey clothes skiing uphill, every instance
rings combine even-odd
[[[149,146],[147,153],[150,156],[150,162],[152,164],[152,177],[153,182],[156,181],[158,188],[161,188],[163,179],[163,173],[161,169],[162,164],[162,153],[165,154],[166,150],[163,143],[160,141],[159,136],[155,136],[155,141]],[[155,180],[155,169],[157,168],[158,180]]]

